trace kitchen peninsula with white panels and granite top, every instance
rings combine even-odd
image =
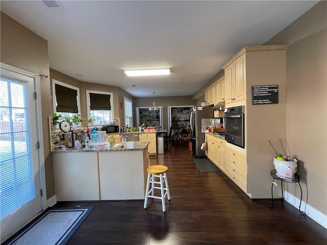
[[[57,201],[144,199],[149,141],[53,151]]]

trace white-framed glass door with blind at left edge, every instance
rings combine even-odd
[[[1,238],[41,212],[35,79],[1,68]]]

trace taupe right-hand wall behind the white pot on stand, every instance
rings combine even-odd
[[[322,1],[266,44],[286,53],[286,141],[298,159],[303,201],[327,214],[327,2]],[[297,185],[288,191],[300,197]]]

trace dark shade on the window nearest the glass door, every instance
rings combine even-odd
[[[57,112],[78,113],[77,90],[56,84]]]

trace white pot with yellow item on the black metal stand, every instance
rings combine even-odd
[[[286,178],[294,178],[297,171],[297,160],[292,157],[283,156],[285,161],[278,160],[274,157],[273,164],[276,169],[276,175]]]

